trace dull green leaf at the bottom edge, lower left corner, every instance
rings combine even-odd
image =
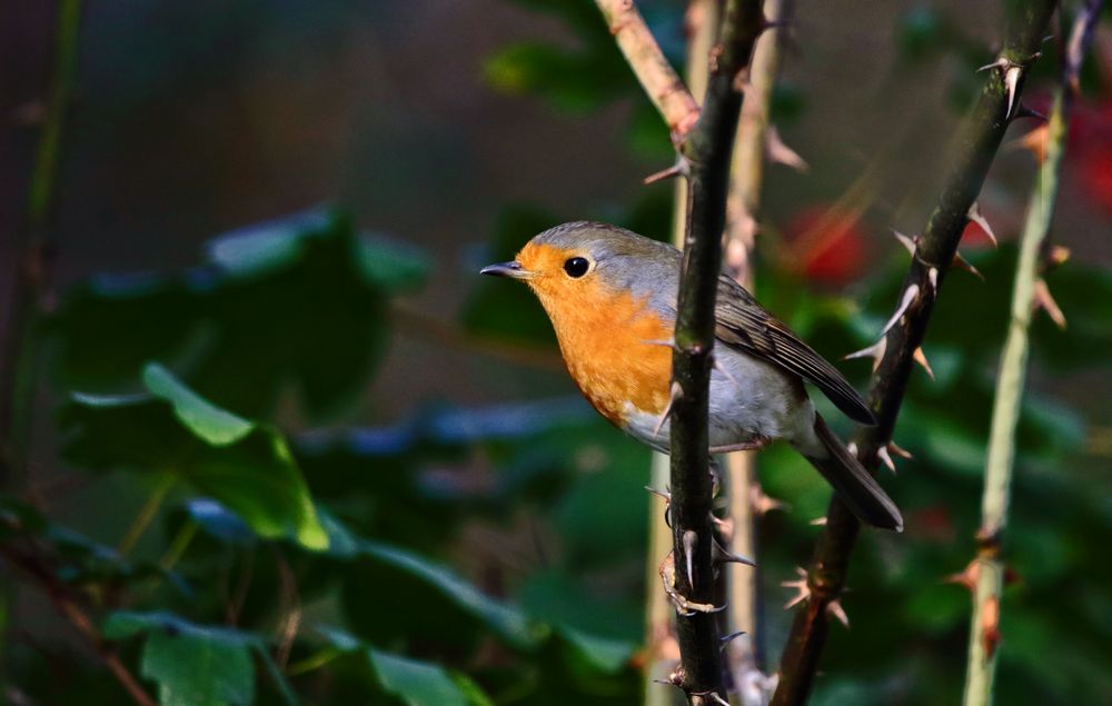
[[[107,639],[146,634],[142,676],[158,683],[162,706],[246,705],[255,699],[251,636],[205,627],[170,613],[113,613]]]

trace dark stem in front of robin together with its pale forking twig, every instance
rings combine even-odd
[[[637,79],[672,128],[687,177],[687,223],[673,354],[672,501],[675,590],[692,605],[714,593],[713,483],[707,399],[714,300],[722,269],[729,161],[742,107],[743,70],[766,29],[759,0],[728,0],[711,52],[699,112],[632,0],[596,0]],[[683,568],[681,568],[683,567]],[[669,679],[692,704],[725,703],[716,616],[693,611],[677,625],[681,667]]]

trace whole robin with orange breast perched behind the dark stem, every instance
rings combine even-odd
[[[667,453],[681,259],[669,245],[577,221],[544,231],[517,259],[481,272],[528,285],[552,319],[583,395],[615,426]],[[851,419],[876,424],[856,390],[725,275],[718,279],[715,320],[711,451],[784,439],[858,519],[903,529],[895,504],[815,411],[803,382],[816,386]]]

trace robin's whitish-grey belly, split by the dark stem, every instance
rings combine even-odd
[[[718,365],[711,372],[711,447],[736,446],[758,438],[806,438],[814,407],[802,384],[780,368],[717,346]],[[626,430],[636,439],[667,451],[671,420],[626,407]]]

